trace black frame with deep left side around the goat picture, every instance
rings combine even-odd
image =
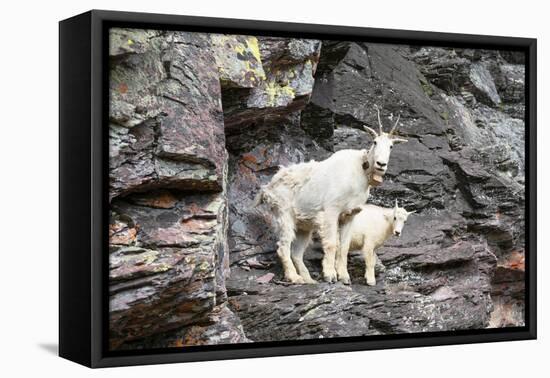
[[[525,327],[109,352],[108,46],[110,27],[519,50],[526,53]],[[59,354],[89,367],[535,339],[536,39],[92,10],[59,24]]]

